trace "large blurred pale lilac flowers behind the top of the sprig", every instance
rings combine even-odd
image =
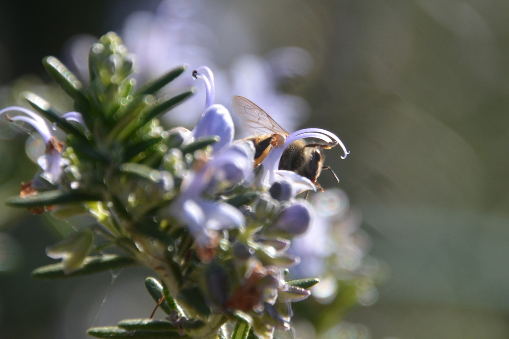
[[[299,47],[279,47],[265,57],[251,53],[257,49],[256,39],[246,29],[240,14],[220,12],[217,7],[200,0],[165,0],[155,13],[131,13],[124,22],[122,38],[138,57],[134,77],[138,83],[143,83],[175,65],[188,64],[189,74],[199,66],[209,65],[215,75],[216,103],[231,110],[232,95],[247,97],[269,112],[281,126],[294,131],[308,119],[309,105],[301,97],[282,92],[279,85],[305,77],[313,67],[312,57]],[[206,17],[215,21],[209,22],[211,26],[217,26],[228,16],[229,30],[239,32],[236,39],[221,39],[227,45],[217,48],[218,38],[223,37],[217,37],[216,32],[203,23],[206,21],[204,13],[214,13]],[[88,51],[95,40],[88,35],[78,35],[68,43],[67,54],[82,79],[88,77]],[[168,123],[190,127],[202,113],[203,84],[184,75],[163,92],[171,93],[186,86],[198,87],[199,94],[164,119]]]

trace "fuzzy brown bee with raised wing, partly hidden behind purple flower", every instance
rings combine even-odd
[[[289,136],[284,128],[279,126],[262,108],[252,101],[240,97],[232,97],[232,105],[235,112],[242,119],[242,127],[248,133],[252,133],[244,140],[250,140],[254,144],[255,167],[262,163],[274,146],[274,140],[278,135]],[[309,179],[315,186],[323,191],[317,182],[322,170],[329,170],[337,182],[340,180],[328,166],[323,165],[325,155],[324,149],[330,149],[336,143],[330,144],[306,144],[302,139],[296,140],[288,146],[279,160],[279,170],[293,171],[298,175]]]

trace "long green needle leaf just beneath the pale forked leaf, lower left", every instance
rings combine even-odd
[[[116,255],[87,257],[84,260],[84,266],[70,274],[66,275],[64,273],[64,265],[62,263],[58,263],[36,268],[32,271],[31,277],[34,279],[66,278],[104,272],[135,265],[138,265],[138,262],[131,257],[121,257]]]

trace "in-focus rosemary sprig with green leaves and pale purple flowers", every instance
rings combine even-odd
[[[214,104],[213,74],[206,67],[193,73],[207,89],[201,119],[192,131],[164,130],[158,118],[195,89],[157,96],[184,66],[136,88],[129,78],[133,61],[121,39],[108,33],[90,50],[87,89],[58,59],[43,59],[74,100],[74,111],[61,114],[29,92],[23,97],[35,111],[0,111],[13,123],[32,125],[46,146],[40,171],[7,204],[97,220],[49,246],[47,255],[62,262],[32,276],[63,278],[133,265],[154,270],[158,278],[148,277],[146,287],[167,317],[89,329],[96,337],[269,339],[274,329],[289,330],[291,303],[318,283],[285,278],[299,260],[286,250],[314,217],[312,205],[296,196],[317,185],[278,165],[285,149],[304,137],[322,139],[327,148],[341,145],[346,155],[343,144],[319,129],[276,133],[261,161],[253,139],[234,140],[230,112]],[[54,135],[57,128],[65,132],[64,142]],[[122,255],[111,254],[112,247]]]

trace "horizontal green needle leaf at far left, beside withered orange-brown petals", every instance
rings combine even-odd
[[[6,205],[13,207],[36,207],[100,200],[102,200],[100,196],[88,193],[70,193],[64,190],[54,190],[40,192],[30,196],[12,196],[7,199]]]

